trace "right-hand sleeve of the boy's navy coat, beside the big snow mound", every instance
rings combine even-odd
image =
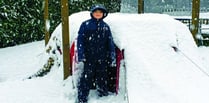
[[[109,26],[107,30],[108,30],[107,33],[108,33],[108,49],[109,49],[110,63],[113,63],[116,61],[115,44]]]

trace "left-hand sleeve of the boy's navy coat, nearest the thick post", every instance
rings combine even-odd
[[[85,25],[84,23],[82,23],[78,31],[78,38],[77,38],[78,62],[85,61],[84,32],[85,32]]]

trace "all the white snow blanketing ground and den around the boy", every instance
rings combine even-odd
[[[71,44],[81,22],[89,18],[89,12],[70,16]],[[117,46],[125,49],[129,103],[209,101],[208,48],[198,48],[184,24],[161,14],[114,13],[105,21]],[[59,25],[46,49],[43,42],[0,49],[1,103],[74,103],[72,78],[62,80],[62,54],[57,50],[62,45],[61,32]],[[49,57],[54,60],[49,74],[25,79]],[[99,99],[92,92],[89,103],[125,103],[124,87],[120,85],[118,96]]]

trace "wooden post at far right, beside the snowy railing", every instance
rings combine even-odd
[[[196,35],[199,28],[200,0],[192,1],[192,36],[197,44]]]

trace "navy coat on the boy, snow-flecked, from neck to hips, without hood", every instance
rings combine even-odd
[[[114,61],[113,37],[103,18],[96,20],[92,17],[81,24],[77,39],[78,61]]]

